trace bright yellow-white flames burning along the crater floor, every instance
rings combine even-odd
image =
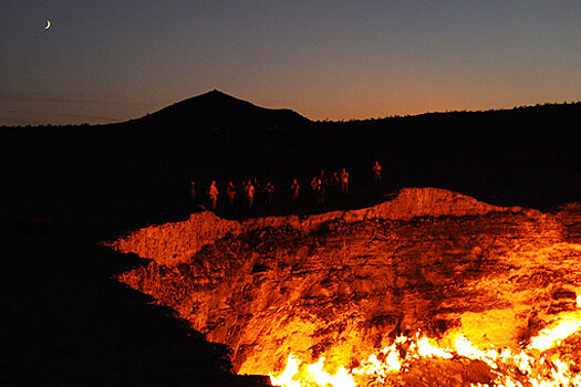
[[[461,333],[449,333],[435,341],[418,332],[414,337],[395,338],[391,346],[363,359],[357,367],[346,369],[341,365],[334,373],[325,369],[324,357],[305,364],[291,354],[284,370],[271,373],[270,381],[273,386],[286,387],[393,386],[397,385],[398,374],[408,372],[422,358],[456,358],[486,363],[494,375],[490,383],[473,383],[470,386],[581,386],[580,365],[559,351],[564,341],[580,338],[581,295],[577,296],[577,304],[580,311],[556,318],[550,326],[531,337],[520,352],[494,346],[483,351]]]

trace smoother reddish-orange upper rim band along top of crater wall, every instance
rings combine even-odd
[[[330,221],[352,223],[369,219],[411,220],[416,217],[463,217],[521,210],[518,207],[504,208],[483,203],[444,189],[407,188],[402,189],[393,200],[371,208],[309,217],[267,217],[239,222],[221,219],[209,211],[193,213],[187,221],[144,228],[108,244],[115,250],[134,252],[139,257],[153,259],[158,264],[174,266],[189,262],[201,247],[227,233],[239,236],[253,230],[283,227],[310,233]]]

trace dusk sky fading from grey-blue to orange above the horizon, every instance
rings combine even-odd
[[[0,125],[126,121],[212,88],[311,119],[580,101],[580,42],[579,0],[9,1]]]

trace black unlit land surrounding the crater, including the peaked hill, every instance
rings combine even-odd
[[[189,113],[188,113],[189,112]],[[581,104],[312,123],[219,92],[128,123],[0,130],[0,247],[10,385],[240,385],[228,348],[112,280],[141,265],[97,245],[197,211],[186,189],[257,176],[278,187],[272,215],[361,208],[401,187],[433,186],[498,206],[581,198]],[[385,181],[373,185],[380,160]],[[347,168],[352,194],[325,208],[301,192],[321,168]],[[203,199],[199,199],[201,202]],[[219,212],[242,218],[243,213]],[[258,206],[256,213],[267,210]]]

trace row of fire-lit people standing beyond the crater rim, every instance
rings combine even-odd
[[[375,165],[372,168],[373,179],[375,182],[382,181],[382,167],[378,161],[375,161]],[[335,171],[331,177],[325,174],[324,169],[321,169],[318,176],[314,176],[310,182],[310,200],[312,205],[322,207],[325,205],[325,200],[329,197],[347,197],[350,195],[350,175],[345,168],[341,171]],[[218,189],[218,182],[211,180],[209,187],[204,190],[205,197],[199,197],[196,188],[196,182],[191,181],[188,189],[189,200],[193,203],[207,202],[207,208],[211,211],[218,209],[218,203],[220,206],[226,206],[227,210],[235,211],[243,209],[248,212],[255,210],[256,198],[261,199],[261,203],[266,210],[271,210],[274,199],[274,185],[272,181],[267,180],[266,182],[259,182],[255,177],[253,179],[248,179],[239,185],[235,185],[234,181],[229,181],[226,186],[226,191],[220,192]],[[299,206],[302,200],[301,186],[299,180],[294,178],[292,184],[287,188],[283,188],[277,192],[280,192],[278,196],[288,195],[287,198],[290,198],[293,206]],[[220,198],[225,198],[219,200]]]

